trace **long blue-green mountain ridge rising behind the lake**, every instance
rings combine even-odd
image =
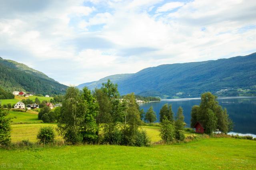
[[[256,95],[256,53],[211,61],[163,64],[134,74],[116,74],[81,84],[81,89],[101,86],[107,79],[118,84],[120,94],[162,98],[199,97],[203,92],[218,96]]]

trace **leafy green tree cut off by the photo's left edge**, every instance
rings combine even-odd
[[[10,118],[8,118],[8,111],[0,107],[0,147],[7,146],[10,143],[11,125]]]

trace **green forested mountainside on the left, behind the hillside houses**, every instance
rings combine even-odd
[[[25,64],[0,57],[0,88],[46,95],[64,94],[67,86]]]

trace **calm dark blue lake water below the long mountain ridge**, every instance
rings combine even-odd
[[[256,135],[256,97],[219,97],[217,101],[220,106],[227,109],[230,118],[234,121],[235,126],[233,132]],[[177,113],[178,107],[181,106],[183,108],[185,122],[187,126],[190,126],[191,108],[194,105],[199,105],[200,102],[200,98],[161,100],[160,102],[141,104],[140,108],[143,108],[146,112],[150,106],[153,106],[157,115],[156,122],[159,122],[159,112],[164,104],[172,104],[172,111],[175,114]]]

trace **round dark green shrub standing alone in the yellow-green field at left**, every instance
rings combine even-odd
[[[53,142],[55,137],[53,127],[41,127],[37,139],[40,143],[50,143]]]

